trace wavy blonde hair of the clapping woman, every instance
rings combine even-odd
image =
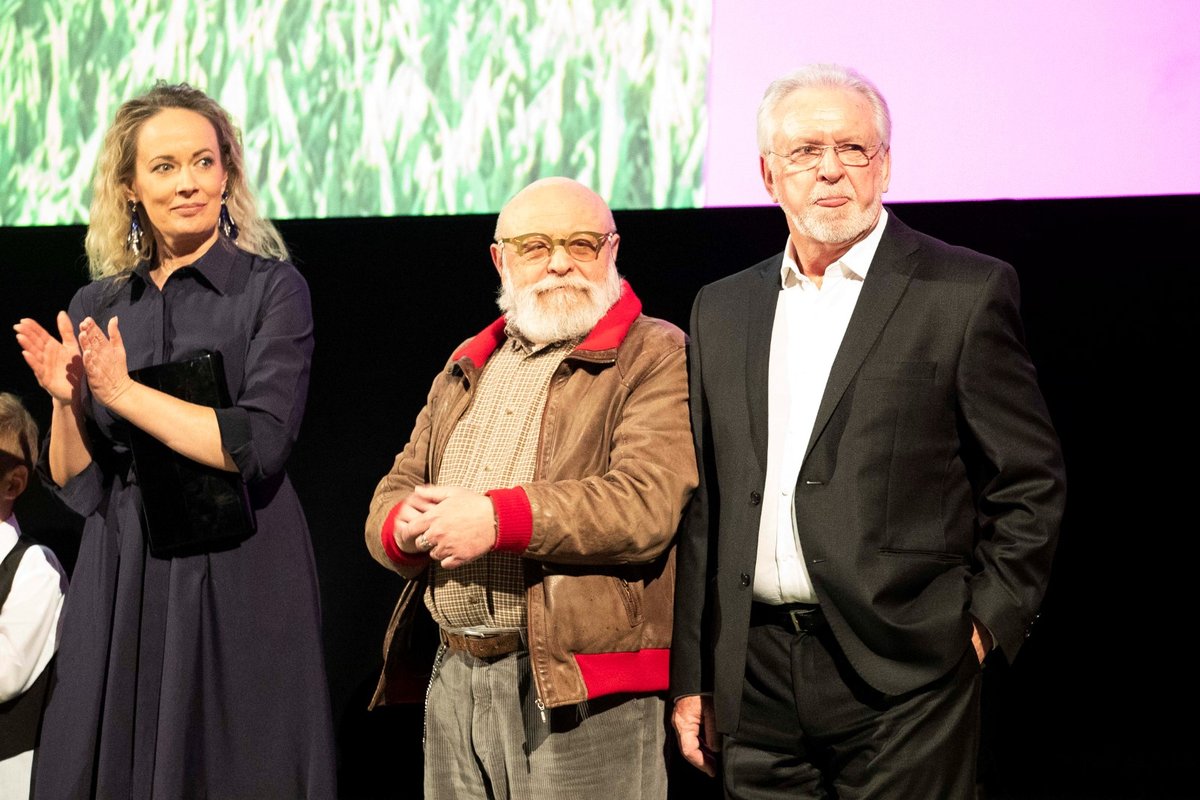
[[[113,126],[104,134],[96,176],[92,179],[91,215],[84,248],[94,279],[128,276],[140,261],[152,258],[154,236],[143,236],[142,249],[133,253],[126,237],[130,233],[128,187],[133,182],[142,126],[166,108],[184,108],[203,115],[217,134],[221,164],[226,169],[229,216],[238,223],[238,246],[245,251],[287,260],[288,248],[280,231],[264,219],[246,184],[241,131],[229,113],[215,100],[186,83],[155,83],[144,95],[126,101],[116,110]],[[152,231],[145,210],[137,206],[143,230]]]

